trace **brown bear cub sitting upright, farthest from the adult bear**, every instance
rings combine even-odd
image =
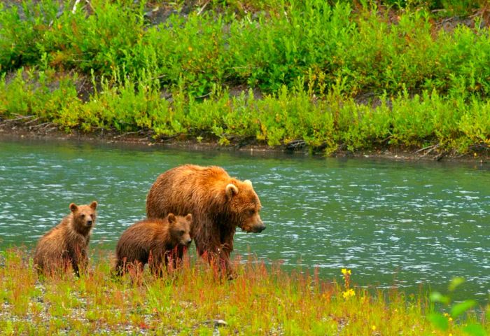
[[[88,263],[87,249],[97,217],[97,202],[69,206],[70,214],[39,239],[34,265],[40,274],[66,272],[71,266],[77,276]]]

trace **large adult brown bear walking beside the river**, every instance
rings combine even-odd
[[[183,165],[160,174],[146,197],[148,218],[193,214],[190,237],[197,253],[230,273],[237,226],[261,232],[260,200],[251,181],[239,181],[221,167]]]

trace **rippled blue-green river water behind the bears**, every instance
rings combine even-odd
[[[99,201],[91,248],[113,249],[145,216],[158,174],[183,163],[251,179],[267,230],[237,232],[235,254],[286,269],[352,269],[360,286],[444,290],[486,300],[490,290],[489,165],[193,152],[60,141],[0,141],[0,249],[36,240],[70,202]]]

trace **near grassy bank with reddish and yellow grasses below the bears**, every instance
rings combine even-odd
[[[214,335],[215,329],[220,335],[484,335],[471,326],[490,331],[484,316],[453,318],[449,309],[440,315],[447,324],[440,330],[426,317],[433,309],[427,299],[396,290],[367,293],[353,286],[355,274],[346,270],[339,270],[343,279],[337,283],[248,260],[237,265],[235,281],[218,281],[210,267],[186,262],[172,278],[154,279],[147,272],[114,281],[102,257],[80,279],[39,281],[25,252],[3,251],[2,335]]]

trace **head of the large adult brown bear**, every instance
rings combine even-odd
[[[226,200],[230,203],[230,211],[239,228],[246,232],[262,232],[264,222],[260,219],[260,200],[251,181],[233,181],[225,187]]]

